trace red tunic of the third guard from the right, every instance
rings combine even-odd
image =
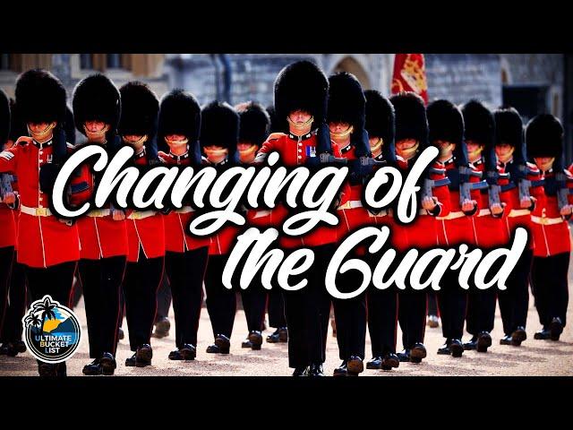
[[[485,164],[483,159],[479,159],[474,163],[474,167],[479,172],[485,172]],[[502,170],[498,168],[498,170]],[[503,173],[503,172],[500,172]],[[502,182],[500,182],[502,185]],[[501,195],[500,195],[501,200]],[[509,213],[510,209],[506,206],[502,216],[495,218],[490,211],[490,198],[487,189],[479,193],[479,200],[477,201],[478,212],[475,217],[471,217],[476,245],[480,248],[492,248],[509,243],[508,229],[506,228],[506,220],[503,215]]]

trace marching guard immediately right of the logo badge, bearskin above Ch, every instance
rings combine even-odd
[[[80,82],[73,91],[74,121],[87,142],[96,143],[113,158],[121,141],[117,125],[121,113],[119,90],[107,76],[92,74]],[[88,168],[84,165],[83,168]],[[88,200],[96,181],[88,172],[89,188],[82,192]],[[80,198],[80,196],[78,196]],[[78,264],[83,289],[90,358],[83,374],[115,373],[115,349],[121,320],[120,303],[122,281],[127,259],[127,227],[124,211],[111,205],[90,211],[77,221],[80,233],[80,262]]]

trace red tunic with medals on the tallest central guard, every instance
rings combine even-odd
[[[269,154],[277,151],[282,162],[288,167],[304,165],[307,158],[313,157],[316,150],[316,133],[308,133],[301,137],[293,134],[272,133],[266,142],[262,144],[258,154]],[[336,142],[331,142],[332,150],[335,157],[341,157],[342,154]],[[316,154],[318,155],[318,154]],[[347,196],[343,197],[344,204]],[[279,204],[270,213],[270,222],[273,225],[281,225],[287,218],[288,210],[285,206]],[[321,226],[312,230],[304,236],[281,236],[279,243],[286,248],[298,246],[319,246],[336,243],[338,240],[337,227]]]

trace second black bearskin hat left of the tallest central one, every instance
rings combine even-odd
[[[211,101],[201,109],[201,147],[221,146],[235,159],[239,139],[239,114],[227,102]]]

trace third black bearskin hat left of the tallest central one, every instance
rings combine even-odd
[[[181,134],[189,139],[189,147],[199,140],[201,131],[201,106],[192,95],[181,89],[167,92],[161,99],[158,122],[159,149],[169,152],[165,136]]]

